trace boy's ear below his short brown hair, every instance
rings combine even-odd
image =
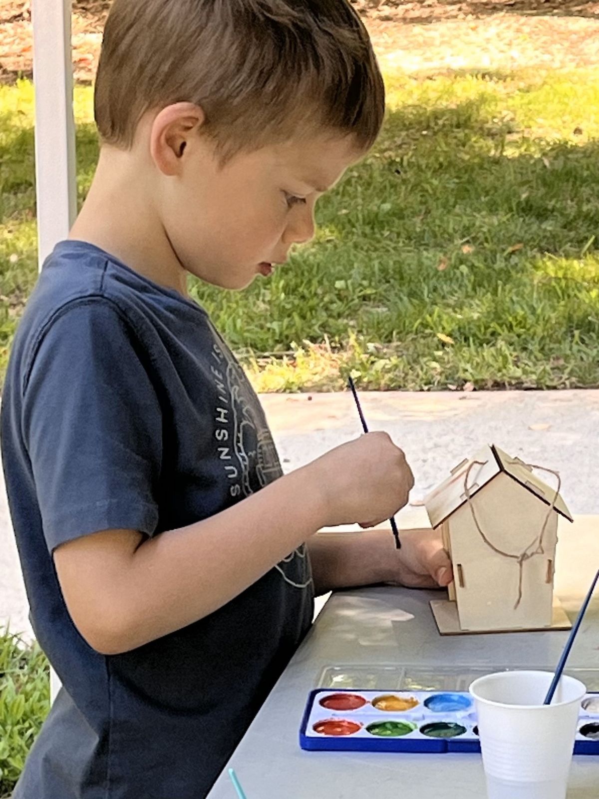
[[[180,172],[183,153],[204,118],[200,106],[191,102],[167,105],[157,114],[150,131],[150,154],[161,173],[172,177]]]

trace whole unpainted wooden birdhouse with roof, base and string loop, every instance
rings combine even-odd
[[[553,602],[557,518],[573,521],[530,464],[493,445],[458,463],[424,499],[454,568],[449,602],[431,607],[442,634],[567,629]]]

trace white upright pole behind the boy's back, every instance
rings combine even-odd
[[[33,0],[38,264],[65,239],[77,213],[71,0]],[[50,701],[60,681],[50,669]]]

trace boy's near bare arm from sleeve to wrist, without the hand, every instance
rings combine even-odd
[[[308,491],[311,501],[299,503]],[[94,649],[118,654],[223,606],[300,547],[323,515],[304,468],[153,539],[133,530],[82,536],[58,547],[54,563],[81,635]]]

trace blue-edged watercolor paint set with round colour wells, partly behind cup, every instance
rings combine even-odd
[[[480,752],[467,691],[311,691],[300,728],[307,750]],[[581,702],[574,754],[599,755],[599,694]]]

